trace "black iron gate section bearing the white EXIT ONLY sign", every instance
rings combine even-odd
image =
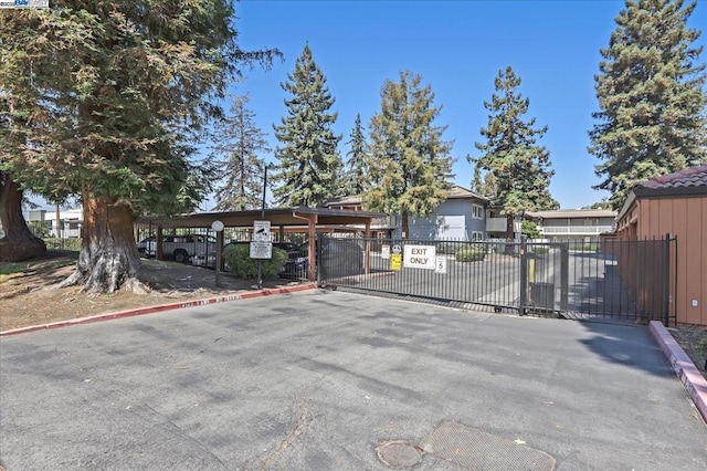
[[[349,239],[358,250],[327,250],[335,240],[319,238],[321,283],[496,311],[520,308],[520,243]]]

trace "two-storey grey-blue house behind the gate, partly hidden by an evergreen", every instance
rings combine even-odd
[[[489,200],[466,188],[453,185],[446,199],[428,217],[410,217],[409,239],[437,240],[484,240],[486,238],[486,207]],[[361,210],[361,197],[337,198],[325,205],[331,209]],[[400,238],[402,221],[400,214],[376,218],[371,232],[381,238]]]

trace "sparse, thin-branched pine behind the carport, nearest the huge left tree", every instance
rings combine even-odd
[[[215,126],[217,145],[212,156],[225,169],[225,177],[217,189],[218,211],[243,211],[262,205],[264,163],[258,153],[270,149],[247,102],[247,96],[234,97],[231,116],[223,117]]]

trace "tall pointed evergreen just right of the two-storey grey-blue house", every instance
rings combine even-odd
[[[508,66],[494,80],[496,92],[484,107],[490,112],[488,126],[482,128],[485,143],[476,143],[482,151],[478,157],[467,157],[483,171],[492,174],[496,181],[493,203],[506,216],[506,239],[514,239],[514,218],[524,211],[553,209],[559,205],[549,192],[550,154],[537,139],[548,130],[547,126],[534,128],[535,118],[527,122],[530,101],[517,91],[520,77]]]

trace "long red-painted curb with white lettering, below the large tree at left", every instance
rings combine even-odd
[[[46,331],[49,328],[66,327],[70,325],[89,324],[92,322],[108,321],[112,318],[133,317],[137,315],[158,313],[162,311],[172,311],[172,310],[180,310],[184,307],[204,306],[208,304],[225,303],[225,302],[238,301],[238,300],[247,300],[251,297],[271,296],[273,294],[296,293],[299,291],[315,290],[316,287],[317,287],[316,283],[307,283],[307,284],[300,284],[297,286],[289,286],[289,287],[273,287],[268,290],[247,291],[244,293],[226,294],[224,296],[207,297],[203,300],[184,301],[180,303],[170,303],[170,304],[158,304],[156,306],[147,306],[147,307],[136,307],[136,308],[118,311],[114,313],[92,315],[88,317],[78,317],[78,318],[72,318],[67,321],[52,322],[49,324],[30,325],[28,327],[12,328],[9,331],[0,332],[0,337],[4,337],[9,335],[27,334],[27,333],[36,332],[36,331]]]

